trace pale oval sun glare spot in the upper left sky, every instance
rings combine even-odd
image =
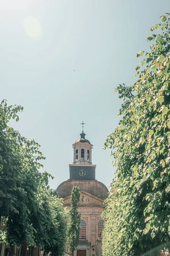
[[[24,29],[32,38],[41,38],[42,28],[38,20],[34,17],[26,17],[23,23]]]

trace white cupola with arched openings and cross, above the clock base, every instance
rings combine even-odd
[[[89,165],[92,164],[91,150],[93,148],[93,145],[90,143],[89,140],[85,139],[85,133],[83,131],[85,123],[83,121],[81,125],[82,133],[80,134],[80,139],[76,140],[76,142],[73,144],[73,164]]]

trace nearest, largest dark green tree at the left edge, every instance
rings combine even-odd
[[[6,220],[0,236],[11,245],[11,255],[15,245],[26,241],[35,246],[36,237],[43,234],[38,189],[48,185],[50,176],[39,172],[38,161],[45,159],[40,145],[8,126],[11,117],[19,120],[18,111],[23,107],[7,106],[6,100],[0,104],[0,219]],[[38,240],[42,244],[40,236]]]

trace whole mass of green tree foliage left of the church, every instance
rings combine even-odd
[[[45,159],[40,145],[8,126],[11,118],[19,120],[18,111],[23,107],[7,106],[6,100],[0,104],[0,239],[12,247],[24,241],[32,248],[48,244],[55,256],[62,255],[67,214],[49,189],[48,178],[54,177],[39,172],[39,160]]]

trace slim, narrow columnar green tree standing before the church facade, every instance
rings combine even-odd
[[[74,186],[71,192],[71,209],[70,209],[70,223],[67,231],[68,250],[74,255],[79,242],[80,219],[81,213],[78,212],[77,203],[80,200],[79,187]]]

